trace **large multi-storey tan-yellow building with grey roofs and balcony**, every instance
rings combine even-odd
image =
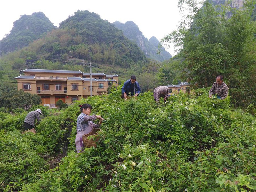
[[[15,77],[18,90],[38,94],[42,105],[56,107],[56,101],[62,99],[68,105],[81,97],[90,96],[90,73],[81,71],[25,69],[24,75]],[[108,87],[118,86],[118,75],[92,73],[92,95],[107,94]]]

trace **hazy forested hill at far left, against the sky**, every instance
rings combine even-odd
[[[14,21],[10,34],[1,40],[1,55],[28,46],[54,28],[56,26],[42,12],[22,15],[19,20]]]

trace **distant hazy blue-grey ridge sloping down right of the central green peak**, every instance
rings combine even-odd
[[[151,37],[149,40],[144,37],[139,27],[132,21],[127,21],[126,23],[120,23],[116,21],[113,23],[115,27],[122,30],[124,35],[136,43],[140,49],[144,52],[146,57],[154,59],[156,61],[162,62],[164,60],[170,59],[172,56],[169,52],[165,51],[162,47],[161,52],[158,53],[159,41],[156,37]]]

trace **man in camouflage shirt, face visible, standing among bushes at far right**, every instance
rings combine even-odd
[[[216,77],[216,82],[213,83],[209,91],[209,97],[212,98],[214,94],[216,94],[219,99],[225,99],[228,96],[228,86],[223,82],[221,75]]]

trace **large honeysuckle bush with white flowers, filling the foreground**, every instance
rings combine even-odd
[[[255,116],[232,109],[229,97],[210,99],[203,90],[156,103],[151,92],[129,101],[120,95],[119,87],[44,118],[36,134],[43,154],[66,145],[67,156],[20,189],[256,191]],[[97,147],[76,154],[76,119],[83,103],[105,121]]]

